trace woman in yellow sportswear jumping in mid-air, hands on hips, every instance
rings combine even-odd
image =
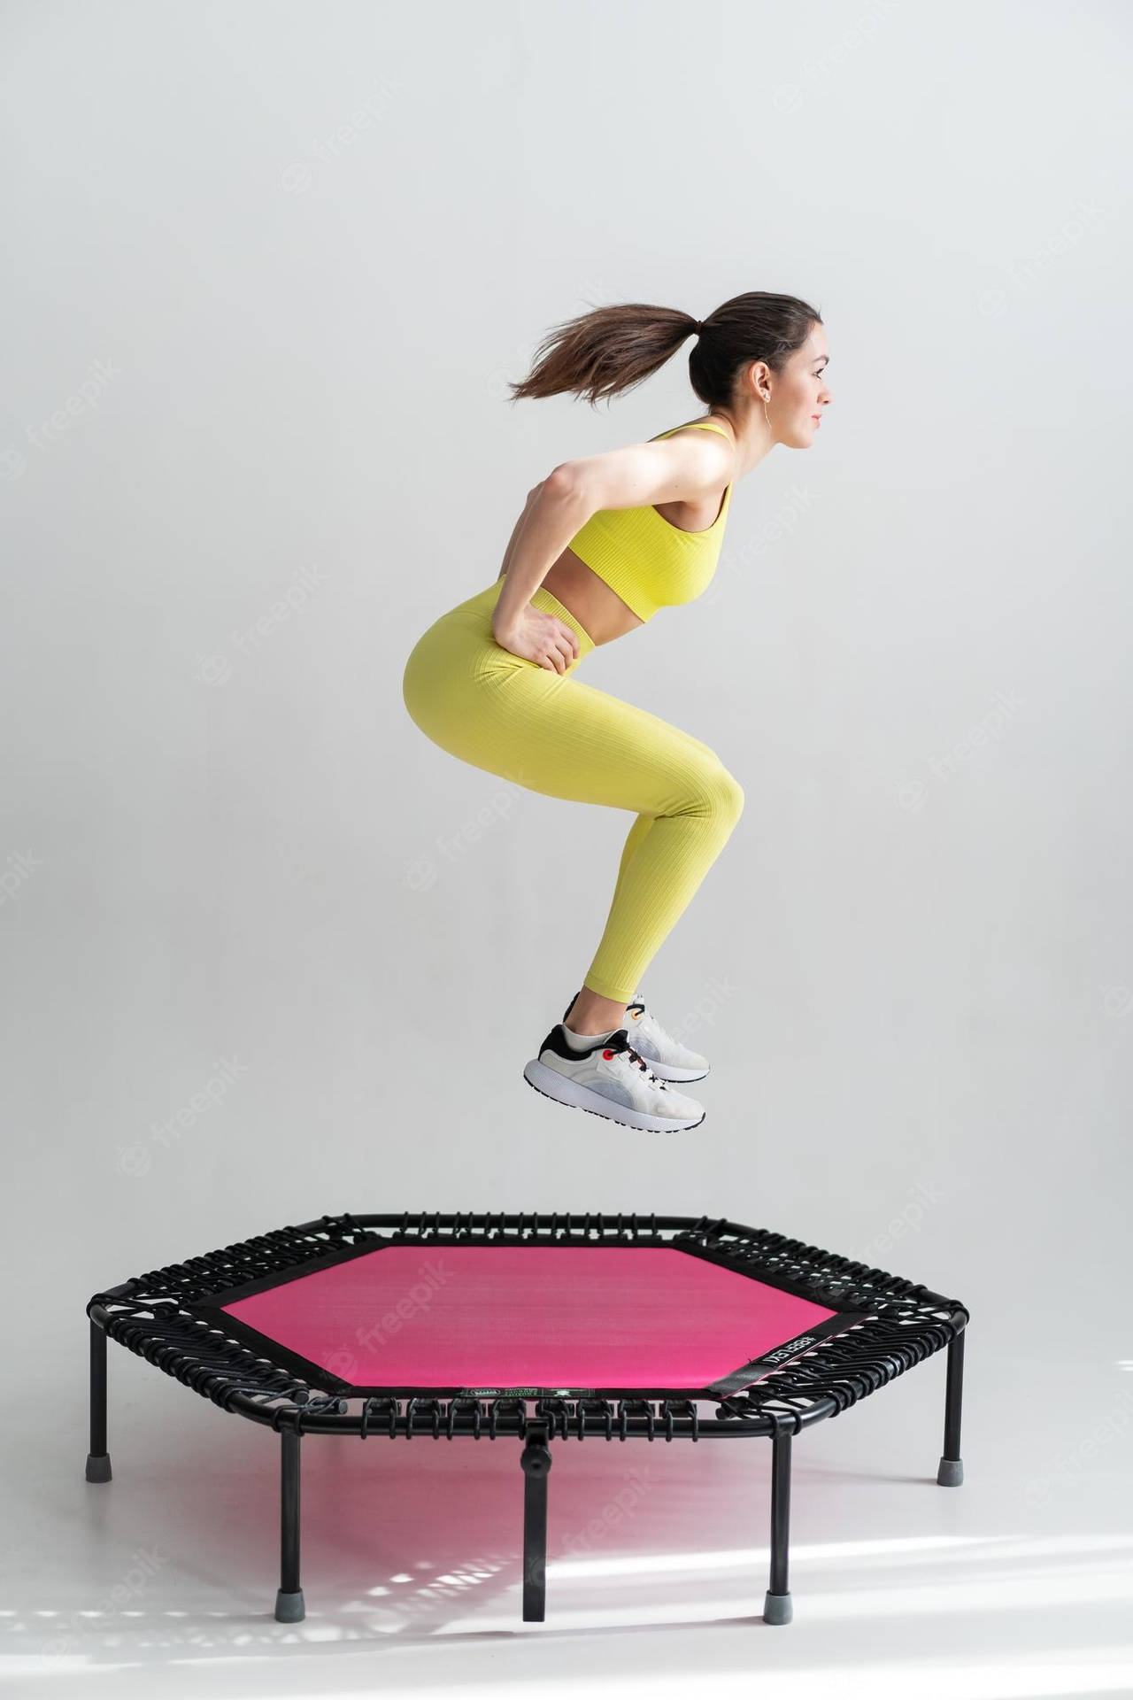
[[[805,301],[763,291],[703,321],[627,303],[557,326],[510,386],[516,401],[572,393],[593,405],[693,335],[688,377],[708,411],[552,468],[496,581],[428,627],[403,680],[409,716],[442,750],[528,790],[635,816],[598,950],[523,1076],[559,1103],[651,1130],[703,1122],[703,1105],[673,1083],[703,1080],[708,1062],[645,1008],[640,978],[744,792],[707,745],[574,673],[598,644],[705,590],[732,486],[776,442],[814,442],[831,401],[826,335]]]

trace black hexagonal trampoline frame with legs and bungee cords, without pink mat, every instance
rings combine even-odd
[[[228,1316],[221,1306],[377,1246],[669,1246],[766,1280],[839,1312],[703,1389],[358,1391]],[[625,1214],[323,1216],[172,1263],[93,1294],[87,1481],[110,1481],[107,1336],[226,1411],[280,1436],[279,1622],[306,1615],[299,1584],[299,1443],[311,1433],[362,1440],[416,1435],[523,1442],[523,1620],[545,1617],[547,1474],[559,1440],[771,1438],[771,1574],[763,1620],[788,1624],[792,1438],[948,1348],[944,1445],[936,1481],[963,1482],[960,1414],[968,1309],[887,1270],[724,1217]],[[270,1346],[270,1355],[265,1352]],[[771,1358],[775,1362],[771,1363]],[[768,1367],[769,1365],[769,1367]],[[751,1382],[751,1375],[759,1379]],[[702,1416],[700,1404],[715,1408]]]

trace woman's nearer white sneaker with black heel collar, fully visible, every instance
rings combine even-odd
[[[562,1022],[557,1022],[538,1056],[525,1066],[523,1080],[545,1098],[606,1115],[623,1127],[683,1132],[705,1119],[702,1103],[657,1080],[630,1046],[625,1027],[608,1039],[596,1039],[588,1051],[574,1051],[564,1037]]]

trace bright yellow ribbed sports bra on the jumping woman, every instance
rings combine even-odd
[[[690,423],[727,437],[724,427],[712,420]],[[671,437],[678,430],[688,430],[688,425],[673,425],[671,430],[657,432],[657,437]],[[657,442],[657,437],[649,440]],[[598,508],[571,537],[569,547],[639,620],[649,620],[657,609],[693,602],[708,588],[720,556],[730,502],[729,484],[715,520],[700,532],[681,530],[679,525],[662,518],[654,507]]]

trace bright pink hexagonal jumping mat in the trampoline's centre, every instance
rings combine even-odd
[[[223,1311],[355,1387],[550,1391],[708,1387],[839,1314],[676,1248],[578,1244],[386,1246]]]

